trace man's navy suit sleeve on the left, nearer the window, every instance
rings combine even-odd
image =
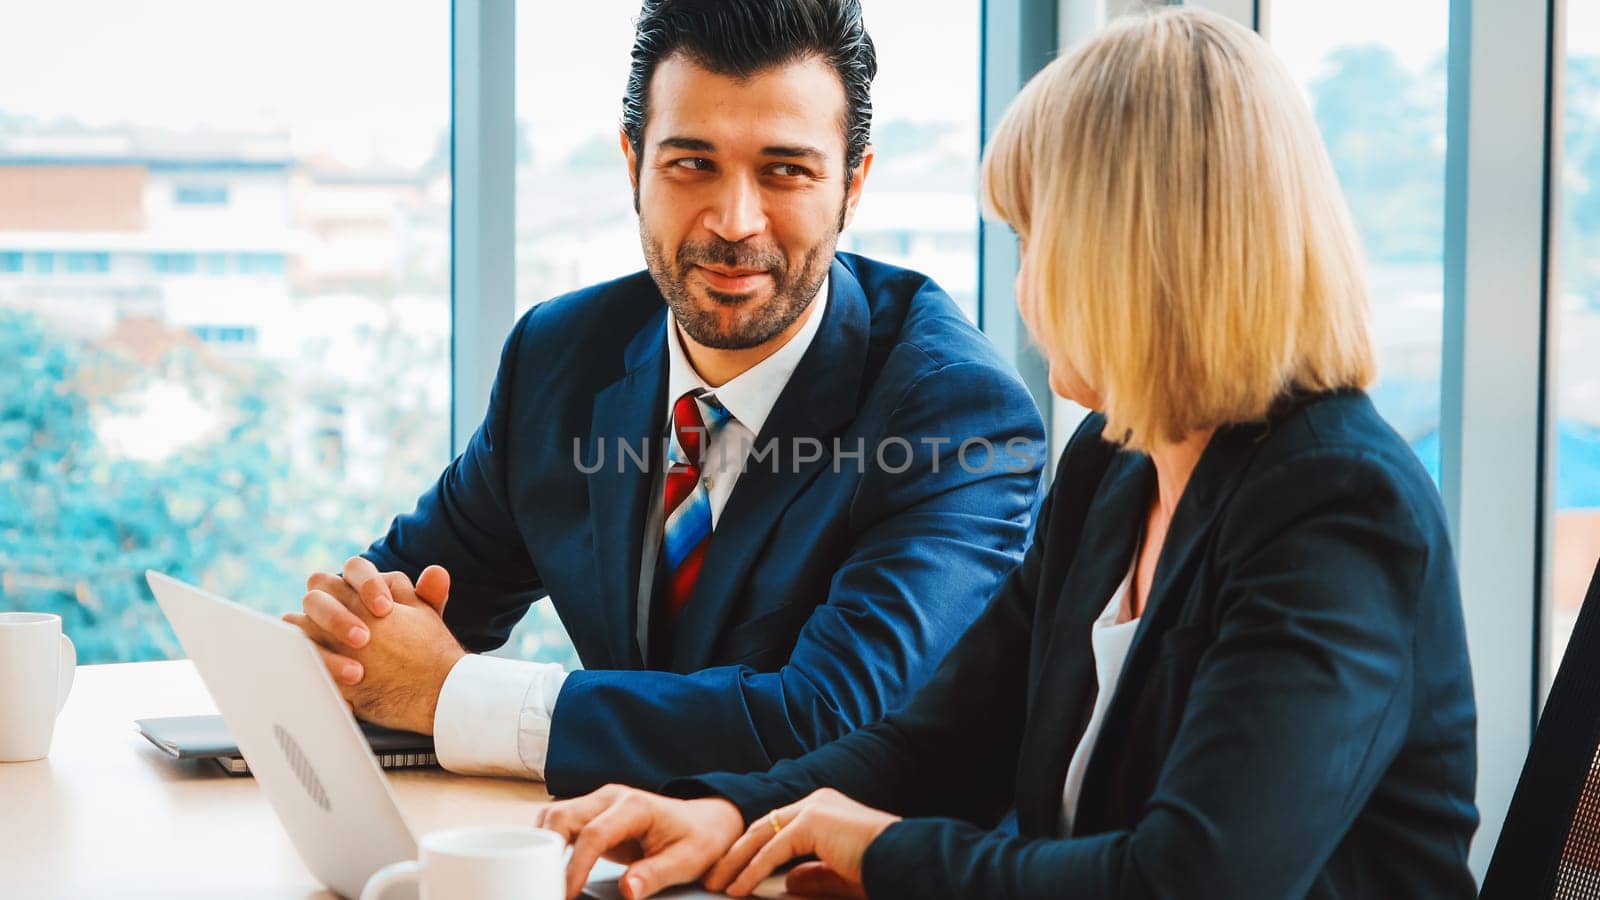
[[[517,620],[544,596],[506,495],[506,424],[518,346],[538,309],[506,338],[488,412],[466,450],[422,493],[416,509],[397,516],[362,554],[381,572],[405,572],[413,581],[427,565],[448,569],[445,625],[474,652],[504,644]]]

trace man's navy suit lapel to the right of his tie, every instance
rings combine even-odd
[[[749,461],[739,474],[706,548],[699,581],[674,631],[674,671],[691,673],[710,665],[717,637],[762,544],[789,503],[829,466],[830,437],[856,415],[870,328],[867,298],[861,282],[837,259],[829,271],[829,291],[816,338],[755,437],[758,452],[776,445],[778,471],[768,458]],[[805,439],[822,444],[822,458],[797,468],[795,445]]]

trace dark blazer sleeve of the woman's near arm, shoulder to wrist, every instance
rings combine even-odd
[[[1450,551],[1414,488],[1352,452],[1253,482],[1219,527],[1218,633],[1139,822],[1026,839],[907,818],[867,849],[869,895],[1306,895],[1405,740],[1422,572]]]

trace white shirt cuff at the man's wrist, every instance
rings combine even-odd
[[[438,764],[462,775],[544,780],[550,716],[566,671],[467,653],[450,669],[434,713]]]

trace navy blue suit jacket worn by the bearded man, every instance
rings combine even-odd
[[[840,253],[829,290],[757,436],[776,452],[717,522],[670,671],[648,671],[635,639],[654,474],[627,453],[653,460],[640,448],[659,448],[667,402],[667,311],[646,272],[533,307],[467,448],[366,551],[413,578],[450,569],[445,621],[469,650],[550,597],[584,663],[550,722],[552,793],[766,769],[875,721],[1021,559],[1045,445],[1011,367],[923,275]],[[974,439],[994,456],[963,452]]]

